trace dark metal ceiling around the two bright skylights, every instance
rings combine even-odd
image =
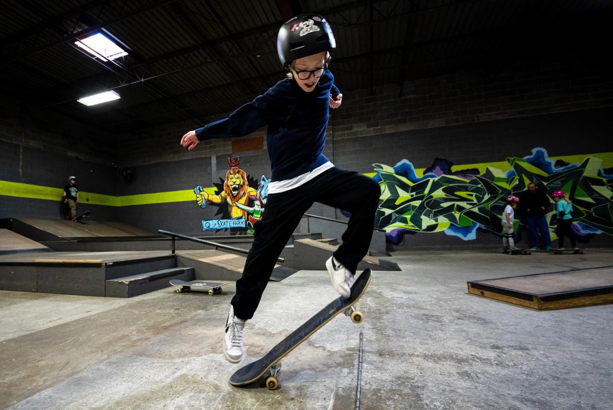
[[[283,78],[278,28],[319,13],[337,37],[344,92],[573,53],[611,53],[607,0],[55,0],[2,2],[0,93],[116,133],[202,125]],[[103,29],[129,55],[103,63],[74,41]],[[121,99],[77,99],[115,90]]]

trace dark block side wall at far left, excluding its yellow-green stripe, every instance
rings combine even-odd
[[[18,106],[0,98],[0,180],[63,188],[75,175],[83,191],[115,195],[115,136],[45,110]],[[60,201],[0,193],[0,218],[58,218]],[[83,201],[78,211],[97,219],[115,219],[115,209]]]

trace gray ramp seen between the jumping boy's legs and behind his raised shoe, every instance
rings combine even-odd
[[[332,256],[338,246],[326,244],[313,239],[294,241],[294,261],[292,268],[321,271],[326,269],[326,260]],[[397,263],[381,258],[365,256],[357,265],[359,270],[366,268],[373,271],[400,271]]]

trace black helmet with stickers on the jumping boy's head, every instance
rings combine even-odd
[[[319,14],[297,15],[281,26],[276,37],[276,51],[285,69],[298,58],[336,47],[332,28]]]

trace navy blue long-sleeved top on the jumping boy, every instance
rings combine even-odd
[[[228,118],[198,128],[196,136],[199,141],[240,137],[268,125],[272,181],[291,179],[329,161],[323,152],[330,93],[336,98],[340,91],[327,70],[309,93],[294,79],[284,79]]]

